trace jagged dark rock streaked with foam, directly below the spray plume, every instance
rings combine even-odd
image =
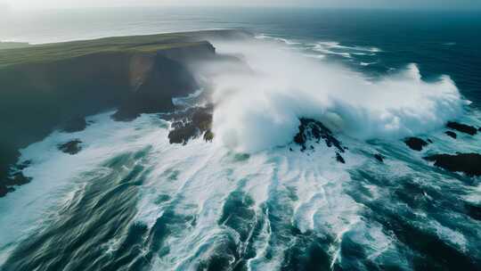
[[[301,146],[301,152],[306,151],[306,143],[309,140],[314,140],[316,143],[320,143],[321,139],[324,140],[328,147],[336,147],[338,152],[345,152],[345,148],[340,141],[334,136],[328,127],[325,127],[322,122],[314,119],[299,119],[301,124],[299,126],[299,132],[294,136],[294,142]]]

